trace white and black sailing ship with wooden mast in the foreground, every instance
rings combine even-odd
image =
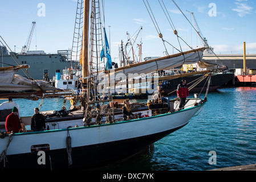
[[[60,170],[78,167],[93,169],[120,162],[187,125],[194,114],[206,104],[207,93],[204,99],[188,98],[182,110],[177,109],[179,101],[175,99],[170,100],[169,107],[168,104],[159,102],[149,106],[144,103],[135,103],[131,105],[135,118],[125,120],[120,107],[122,104],[113,103],[111,93],[104,93],[102,87],[110,88],[111,84],[119,82],[120,79],[116,77],[119,77],[120,73],[123,73],[123,76],[135,76],[136,74],[133,73],[147,74],[176,67],[184,62],[200,61],[204,64],[201,61],[204,48],[116,69],[109,69],[111,62],[107,59],[106,63],[104,62],[105,70],[101,72],[105,74],[99,74],[100,57],[109,58],[107,39],[103,44],[95,43],[99,40],[95,39],[97,35],[95,33],[101,32],[102,26],[99,18],[100,9],[97,8],[99,1],[91,2],[91,14],[89,13],[90,1],[78,1],[78,5],[83,6],[84,9],[83,93],[77,97],[80,105],[74,104],[71,110],[63,108],[58,112],[46,114],[47,130],[15,134],[1,133],[1,169]],[[92,25],[90,39],[88,39],[89,17]],[[103,49],[98,47],[99,52],[93,51],[92,48],[95,46],[101,46]],[[100,52],[101,56],[94,56],[95,53]],[[93,64],[95,60],[97,62]],[[107,100],[104,100],[105,96]],[[26,122],[30,123],[25,119],[22,119],[22,122],[25,125]]]

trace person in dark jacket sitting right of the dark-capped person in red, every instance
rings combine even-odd
[[[35,114],[31,117],[31,130],[34,131],[43,131],[46,129],[46,123],[44,121],[43,114],[39,113],[38,107],[34,109]]]

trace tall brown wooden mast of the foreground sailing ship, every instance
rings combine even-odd
[[[82,64],[83,64],[83,78],[88,77],[88,30],[89,30],[89,6],[90,0],[84,0],[84,13],[83,13],[83,51],[82,51]],[[86,84],[87,79],[83,80]]]

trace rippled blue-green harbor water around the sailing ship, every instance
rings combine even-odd
[[[204,93],[201,97],[204,97]],[[4,101],[0,100],[0,104]],[[38,107],[41,102],[14,101],[19,104],[21,116],[34,114],[34,107]],[[62,106],[63,98],[44,99],[40,111],[60,110]],[[67,102],[66,108],[69,107],[70,103]],[[222,88],[210,92],[208,102],[200,113],[190,119],[188,125],[156,142],[153,150],[106,169],[205,171],[254,164],[255,108],[256,87]],[[216,154],[214,160],[213,152]]]

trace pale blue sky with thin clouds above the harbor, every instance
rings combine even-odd
[[[182,38],[179,39],[180,44],[159,1],[164,2],[178,36]],[[172,46],[178,49],[181,47],[182,51],[189,49],[186,44],[193,48],[201,47],[201,41],[189,23],[194,26],[189,12],[194,13],[202,35],[214,48],[215,53],[241,54],[243,42],[246,42],[246,53],[256,53],[254,0],[176,0],[176,4],[189,21],[172,0],[159,1],[148,0],[148,3],[166,41],[165,47],[169,54],[177,53]],[[110,42],[112,60],[118,57],[121,40],[127,42],[127,32],[133,35],[141,26],[143,29],[137,41],[143,43],[142,56],[164,55],[164,44],[144,2],[147,3],[147,0],[104,0],[104,26]],[[32,22],[35,21],[31,51],[57,53],[58,50],[71,49],[76,5],[76,0],[1,0],[0,35],[12,51],[15,47],[15,51],[20,52],[29,36]]]

